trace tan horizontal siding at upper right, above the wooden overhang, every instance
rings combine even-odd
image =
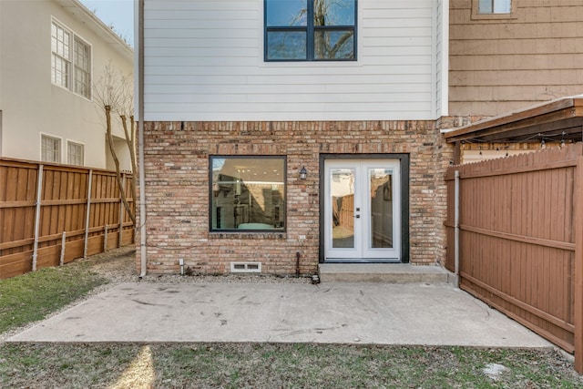
[[[493,116],[583,93],[583,2],[513,0],[508,17],[450,3],[449,114]]]

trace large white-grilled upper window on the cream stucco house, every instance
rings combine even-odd
[[[51,51],[53,84],[91,98],[91,46],[53,20]]]

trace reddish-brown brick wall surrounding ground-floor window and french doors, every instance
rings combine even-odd
[[[408,153],[410,261],[444,261],[451,147],[434,121],[147,122],[148,273],[177,273],[182,258],[200,273],[229,272],[230,261],[261,261],[264,273],[293,274],[296,252],[302,273],[317,271],[322,153]],[[287,231],[210,232],[210,155],[286,156]],[[305,180],[299,179],[303,166]]]

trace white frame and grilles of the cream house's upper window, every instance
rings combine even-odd
[[[64,34],[68,35],[68,42],[55,41],[58,39],[58,35],[54,36],[54,27],[56,31],[62,30]],[[59,50],[60,46],[65,46],[66,50]],[[87,61],[83,61],[83,64],[79,64],[79,58],[77,57],[77,45],[83,45],[87,47]],[[63,71],[56,67],[57,62],[65,63],[66,70]],[[57,75],[63,76],[63,79],[59,79]],[[81,77],[81,78],[79,78]],[[80,86],[78,86],[78,80],[84,78]],[[85,97],[91,99],[91,84],[93,78],[93,46],[91,46],[87,40],[78,36],[73,30],[68,28],[65,24],[59,22],[55,17],[51,18],[51,82],[57,87],[63,87],[77,96]]]

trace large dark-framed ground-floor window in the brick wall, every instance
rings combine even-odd
[[[210,230],[285,230],[284,157],[211,157]]]

